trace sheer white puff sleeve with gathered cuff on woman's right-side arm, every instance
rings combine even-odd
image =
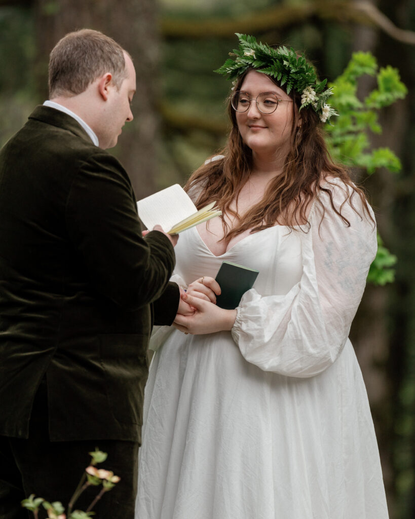
[[[333,364],[347,341],[374,260],[376,226],[357,194],[345,202],[341,181],[326,186],[348,227],[333,210],[329,194],[314,202],[310,229],[301,233],[302,275],[286,295],[246,292],[237,308],[232,337],[244,358],[264,371],[311,377]],[[323,214],[324,213],[324,214]],[[373,214],[370,210],[372,217]],[[301,232],[301,231],[293,231]]]

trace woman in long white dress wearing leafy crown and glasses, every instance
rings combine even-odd
[[[218,71],[235,80],[227,145],[186,185],[223,215],[176,246],[173,280],[194,312],[153,338],[136,517],[385,519],[348,339],[374,216],[327,153],[325,81],[294,51],[238,36]],[[234,310],[215,305],[224,260],[259,270]]]

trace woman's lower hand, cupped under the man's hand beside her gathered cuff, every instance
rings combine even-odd
[[[185,303],[195,309],[190,316],[176,315],[173,326],[184,333],[202,335],[205,333],[230,330],[235,322],[237,311],[225,310],[200,297],[184,294]]]

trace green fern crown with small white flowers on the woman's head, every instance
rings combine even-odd
[[[333,93],[326,88],[327,79],[317,80],[314,67],[306,60],[304,54],[298,56],[293,48],[270,47],[258,43],[254,36],[235,33],[239,38],[239,49],[229,52],[235,60],[227,59],[215,72],[228,75],[228,79],[236,80],[250,67],[267,74],[285,85],[287,94],[291,90],[301,94],[301,108],[311,106],[319,114],[320,120],[326,122],[332,115],[338,115],[326,101]]]

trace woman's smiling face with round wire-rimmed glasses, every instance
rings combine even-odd
[[[293,101],[266,75],[250,71],[239,89],[252,99],[246,112],[236,112],[238,129],[244,143],[255,154],[288,154],[293,143]],[[258,110],[255,99],[262,92],[271,92],[281,100],[276,110],[264,114]],[[300,119],[296,121],[299,126]]]

